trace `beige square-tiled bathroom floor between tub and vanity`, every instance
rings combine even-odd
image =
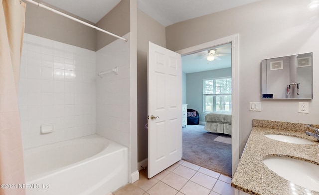
[[[140,180],[113,195],[234,195],[230,182],[227,176],[181,160],[151,179],[141,170]]]

